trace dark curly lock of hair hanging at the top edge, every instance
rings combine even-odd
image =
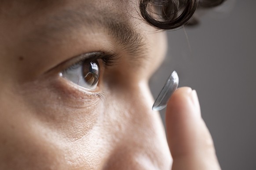
[[[188,23],[198,8],[216,7],[225,0],[139,0],[142,17],[153,27],[175,29]]]

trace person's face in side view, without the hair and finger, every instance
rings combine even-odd
[[[138,1],[0,2],[0,169],[169,169]]]

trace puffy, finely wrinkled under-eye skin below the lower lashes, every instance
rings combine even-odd
[[[40,128],[69,141],[79,140],[102,114],[102,100],[95,93],[87,93],[61,80],[66,81],[57,78],[23,85],[18,92],[19,105],[29,110],[25,116],[33,118]]]

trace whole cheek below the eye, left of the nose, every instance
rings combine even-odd
[[[70,92],[65,96],[59,86],[59,89],[37,83],[25,86],[27,91],[10,92],[5,95],[7,102],[0,103],[1,167],[93,169],[98,162],[91,160],[99,159],[104,151],[103,138],[102,144],[95,145],[99,142],[95,138],[104,136],[97,128],[102,114],[101,100],[95,96],[77,99],[74,93],[67,97]]]

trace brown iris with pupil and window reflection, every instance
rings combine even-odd
[[[83,65],[84,80],[88,85],[95,85],[99,80],[99,63],[97,60],[84,62]]]

